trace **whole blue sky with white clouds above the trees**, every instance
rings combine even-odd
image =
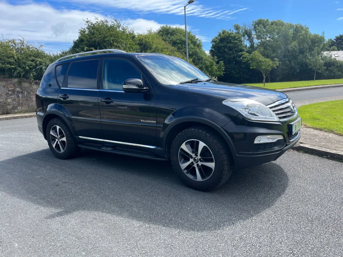
[[[163,24],[184,26],[187,0],[0,0],[0,33],[23,36],[46,51],[68,49],[77,38],[83,19],[114,17],[142,33]],[[234,23],[258,18],[307,25],[326,38],[343,34],[343,0],[196,0],[187,7],[187,27],[209,50],[211,39]]]

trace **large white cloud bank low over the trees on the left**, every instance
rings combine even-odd
[[[27,3],[12,5],[0,1],[0,32],[5,38],[24,37],[36,45],[45,44],[46,51],[66,49],[78,37],[83,20],[108,18],[99,13],[79,10],[56,10],[48,4]],[[134,28],[136,33],[144,33],[147,29],[158,29],[164,24],[153,20],[120,19],[122,23]],[[184,27],[181,24],[169,24]]]

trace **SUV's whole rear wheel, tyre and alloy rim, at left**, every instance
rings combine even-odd
[[[73,134],[61,118],[49,121],[46,138],[51,152],[59,159],[68,159],[78,152]]]

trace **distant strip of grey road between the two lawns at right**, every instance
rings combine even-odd
[[[295,101],[312,100],[325,97],[343,96],[343,87],[331,87],[322,89],[301,90],[285,93]]]

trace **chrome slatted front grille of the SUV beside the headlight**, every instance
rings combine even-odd
[[[270,105],[267,105],[267,107],[275,113],[280,121],[291,120],[298,114],[297,108],[289,98],[271,103]]]

